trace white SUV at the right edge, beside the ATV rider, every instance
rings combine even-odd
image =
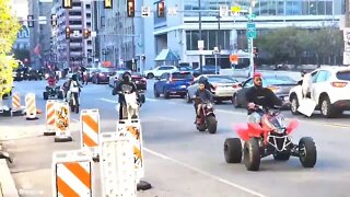
[[[350,67],[327,67],[311,72],[311,86],[306,96],[313,100],[325,117],[340,116],[350,109]],[[294,86],[289,93],[292,114],[299,114],[302,100],[302,85]]]

